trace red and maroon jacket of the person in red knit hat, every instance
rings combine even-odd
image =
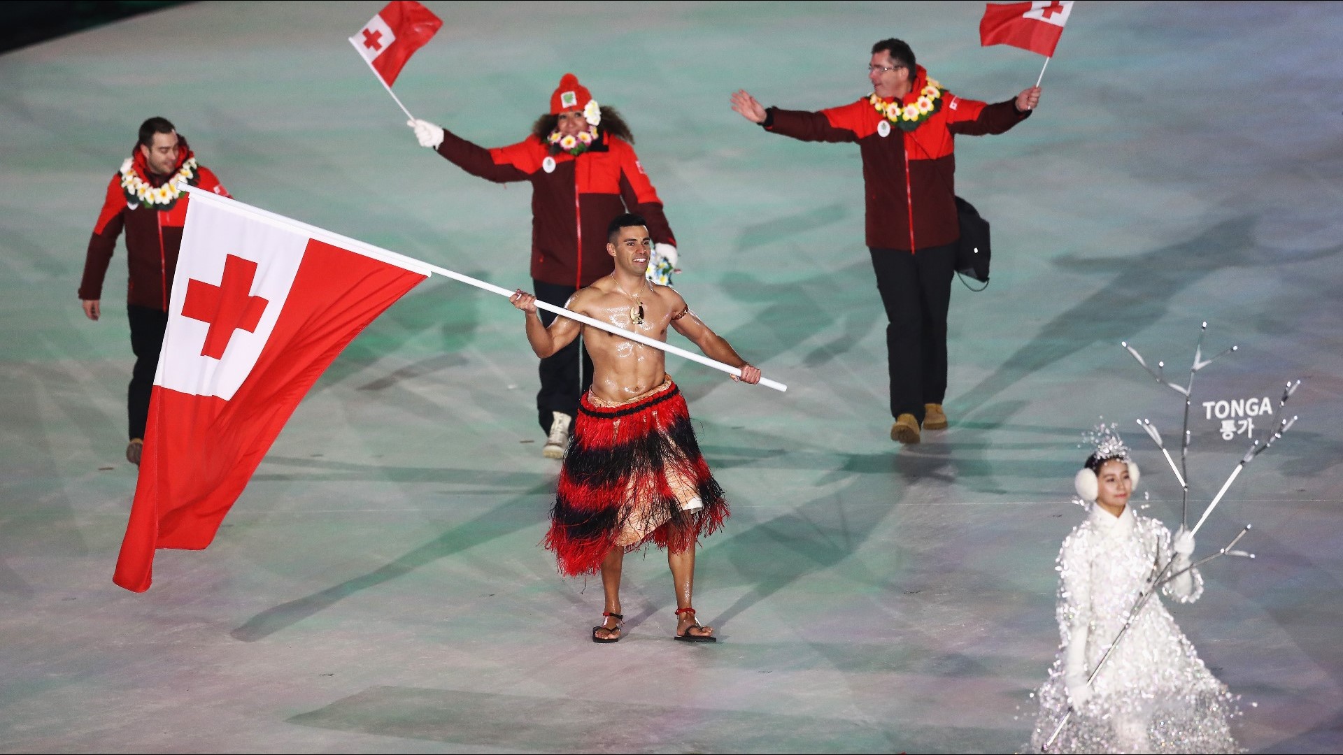
[[[606,226],[622,212],[638,212],[654,243],[676,245],[662,200],[630,142],[599,130],[577,157],[552,153],[529,136],[485,149],[443,130],[438,153],[473,176],[496,183],[532,183],[532,277],[583,287],[614,269]],[[579,253],[582,250],[582,254]]]

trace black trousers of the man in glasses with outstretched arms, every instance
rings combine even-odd
[[[890,416],[912,414],[923,425],[924,404],[940,404],[947,398],[947,309],[956,246],[933,246],[915,254],[868,251],[889,322]]]

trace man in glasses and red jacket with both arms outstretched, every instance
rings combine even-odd
[[[1001,134],[1030,116],[1039,87],[987,105],[928,78],[898,39],[872,47],[873,94],[819,113],[763,107],[745,90],[732,109],[802,141],[855,141],[862,154],[868,249],[886,309],[890,439],[917,443],[947,427],[947,308],[955,271],[955,136]]]

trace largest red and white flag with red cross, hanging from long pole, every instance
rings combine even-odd
[[[210,545],[298,402],[430,270],[188,188],[168,329],[113,582],[149,588],[154,548]]]

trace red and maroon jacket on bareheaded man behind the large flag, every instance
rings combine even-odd
[[[126,231],[126,267],[130,277],[126,282],[126,304],[168,312],[168,296],[172,293],[172,275],[177,270],[177,250],[181,249],[181,227],[187,222],[188,196],[181,193],[171,204],[149,207],[140,203],[133,193],[122,187],[122,172],[134,172],[153,187],[161,187],[193,157],[185,138],[177,141],[177,163],[169,176],[153,176],[145,163],[145,156],[136,146],[132,159],[126,160],[121,172],[113,173],[107,181],[107,196],[98,214],[98,224],[89,239],[89,254],[85,258],[83,281],[79,283],[79,298],[101,300],[102,281],[107,265],[117,249],[117,236]],[[210,168],[196,167],[193,176],[187,179],[191,185],[228,196],[219,179]]]

